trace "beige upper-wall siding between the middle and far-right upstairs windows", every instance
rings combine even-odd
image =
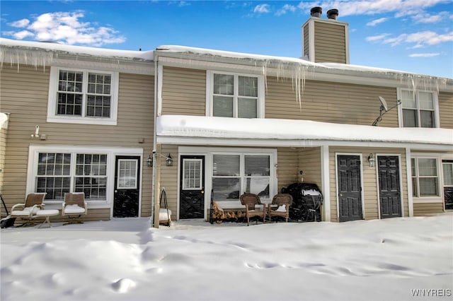
[[[379,96],[396,103],[396,88],[306,81],[299,107],[291,80],[268,77],[265,118],[371,125],[379,116]],[[398,112],[385,114],[379,126],[398,127]]]

